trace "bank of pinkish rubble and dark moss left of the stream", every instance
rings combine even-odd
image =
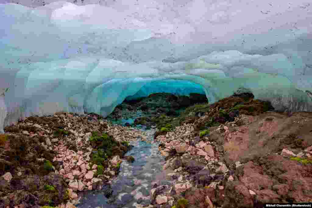
[[[74,207],[77,193],[103,190],[131,156],[128,141],[144,132],[101,116],[58,113],[28,117],[0,135],[0,208]],[[127,162],[126,161],[126,162]]]

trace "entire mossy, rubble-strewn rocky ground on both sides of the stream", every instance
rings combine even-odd
[[[166,179],[174,182],[154,181],[151,204],[140,205],[138,199],[138,208],[312,202],[311,112],[275,112],[270,103],[242,93],[189,106],[177,116],[168,114],[177,110],[170,106],[175,98],[151,97],[122,103],[111,116],[135,116],[145,105],[156,112],[138,120],[157,125],[154,140],[166,156]],[[107,187],[120,162],[135,159],[124,156],[131,148],[127,141],[146,139],[142,131],[113,126],[95,114],[29,117],[5,131],[0,135],[0,151],[5,151],[0,208],[73,207],[86,190],[103,190],[109,197]]]

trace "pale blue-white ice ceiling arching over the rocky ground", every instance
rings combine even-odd
[[[82,2],[0,4],[0,132],[33,114],[105,116],[167,79],[200,84],[209,102],[244,88],[312,111],[308,0]]]

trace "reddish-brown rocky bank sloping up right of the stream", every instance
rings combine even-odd
[[[151,191],[154,207],[312,202],[312,113],[269,109],[251,95],[235,95],[156,135],[175,183]]]

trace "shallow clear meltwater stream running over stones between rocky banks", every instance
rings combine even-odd
[[[148,135],[147,141],[130,142],[134,148],[126,155],[133,156],[135,161],[121,163],[119,175],[111,184],[112,196],[107,199],[102,192],[91,191],[80,199],[76,207],[131,208],[136,207],[136,204],[149,205],[151,183],[155,181],[161,185],[170,183],[165,180],[169,172],[162,170],[165,159],[158,152],[158,143],[153,143],[155,130],[144,131]]]

